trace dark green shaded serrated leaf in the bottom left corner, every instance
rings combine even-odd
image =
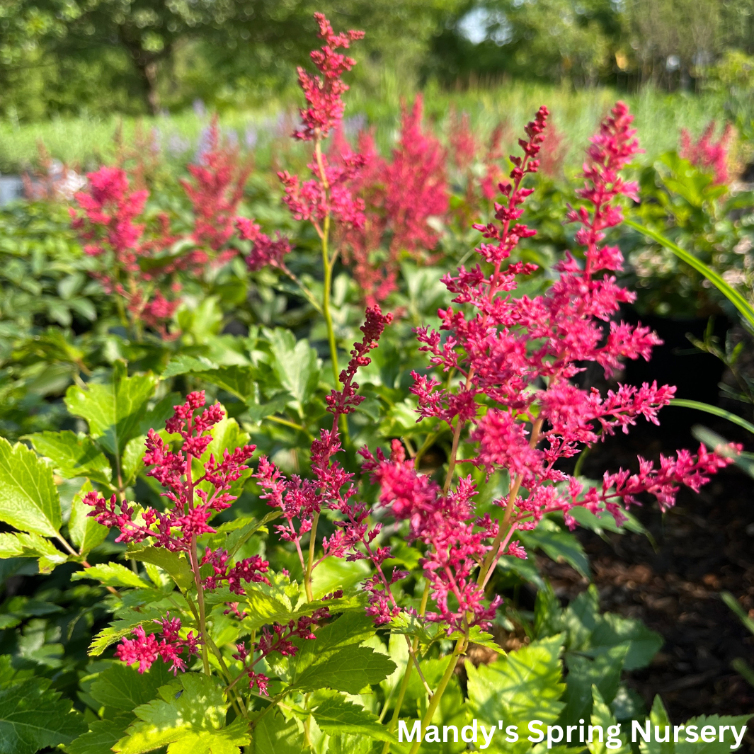
[[[87,729],[71,706],[37,676],[0,687],[0,754],[34,754],[70,743]]]

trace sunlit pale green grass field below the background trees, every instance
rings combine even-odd
[[[397,133],[402,87],[394,75],[384,75],[371,92],[354,89],[347,96],[351,129],[367,123],[375,127],[381,149],[388,150]],[[552,112],[556,127],[569,144],[567,161],[580,162],[587,139],[615,100],[623,98],[636,113],[636,127],[645,149],[644,159],[672,149],[681,127],[698,133],[710,120],[724,118],[723,100],[712,95],[687,95],[646,89],[636,95],[608,88],[572,91],[564,88],[513,82],[492,88],[446,92],[437,87],[425,90],[428,117],[442,130],[451,109],[468,112],[477,133],[486,136],[500,121],[508,121],[516,133],[542,104]],[[296,118],[298,100],[271,100],[265,109],[253,112],[223,112],[220,122],[226,133],[241,145],[253,146],[257,164],[269,158],[270,144],[280,143]],[[14,172],[33,164],[41,140],[54,158],[66,164],[90,169],[108,161],[115,150],[114,136],[121,124],[126,142],[140,127],[154,133],[166,158],[185,162],[195,154],[202,130],[210,115],[189,110],[159,118],[81,117],[36,124],[0,121],[0,172]]]

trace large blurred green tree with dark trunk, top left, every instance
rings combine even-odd
[[[325,12],[337,28],[367,30],[362,61],[410,74],[440,16],[461,2],[0,0],[0,82],[6,84],[0,109],[30,98],[36,106],[21,108],[28,118],[82,105],[156,114],[161,93],[183,106],[203,96],[212,104],[216,92],[269,89],[295,77],[296,63],[308,62],[314,11]]]

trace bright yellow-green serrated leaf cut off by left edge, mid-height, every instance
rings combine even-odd
[[[0,437],[0,520],[43,537],[56,536],[62,523],[52,467],[5,437]]]

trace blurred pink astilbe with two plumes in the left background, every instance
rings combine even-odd
[[[84,252],[100,262],[93,277],[115,296],[121,320],[137,339],[145,327],[174,339],[179,333],[169,333],[167,325],[181,302],[178,274],[201,277],[238,254],[228,242],[240,235],[236,213],[250,164],[239,164],[238,149],[222,144],[216,118],[201,162],[189,165],[189,173],[192,180],[181,185],[192,204],[193,228],[181,253],[172,253],[171,247],[183,234],[167,213],[146,214],[149,189],[133,189],[124,167],[88,173],[88,185],[75,194],[78,211],[69,210]],[[138,171],[135,181],[145,185]]]

